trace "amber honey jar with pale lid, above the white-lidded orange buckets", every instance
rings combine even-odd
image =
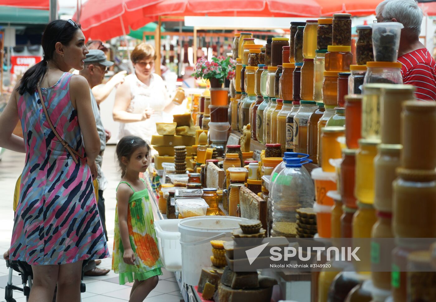
[[[321,130],[321,148],[323,152],[321,167],[324,172],[335,172],[334,166],[329,162],[330,158],[342,158],[341,144],[338,138],[344,136],[344,127],[324,127]]]

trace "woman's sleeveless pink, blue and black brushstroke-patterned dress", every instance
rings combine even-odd
[[[41,88],[59,135],[85,154],[77,111],[69,94],[71,73]],[[109,257],[86,158],[75,164],[46,120],[38,92],[17,101],[26,148],[10,259],[31,265],[67,264]]]

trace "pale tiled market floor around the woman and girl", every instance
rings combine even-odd
[[[106,205],[106,228],[108,230],[109,251],[112,253],[113,229],[115,219],[115,189],[119,182],[119,172],[114,161],[115,146],[107,146],[103,155],[103,172],[109,180],[109,185],[104,192]],[[24,166],[24,154],[5,151],[0,161],[0,255],[7,250],[12,234],[14,212],[12,199],[14,196],[15,182]],[[158,219],[158,217],[155,217]],[[2,258],[2,257],[1,257]],[[99,268],[110,269],[112,258],[102,260]],[[159,276],[156,288],[145,299],[146,302],[179,302],[182,299],[180,288],[174,278],[174,273],[162,269],[163,275]],[[7,285],[6,264],[0,260],[0,301],[4,301],[4,288]],[[110,271],[101,277],[84,277],[86,292],[82,294],[83,302],[116,302],[128,301],[132,284],[119,285],[118,275]],[[21,278],[14,271],[13,284],[20,285]],[[26,301],[22,292],[14,291],[17,302]]]

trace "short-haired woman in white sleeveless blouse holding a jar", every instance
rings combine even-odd
[[[135,72],[126,76],[116,89],[113,119],[120,122],[119,138],[136,135],[150,142],[162,113],[170,112],[174,103],[168,97],[164,80],[153,73],[156,58],[153,46],[136,45],[130,55]]]

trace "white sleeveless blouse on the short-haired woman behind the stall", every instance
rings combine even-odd
[[[154,110],[149,119],[119,124],[119,139],[126,135],[135,135],[143,140],[151,141],[151,136],[157,134],[156,123],[163,122],[163,111],[171,102],[167,96],[164,80],[157,74],[152,73],[150,85],[141,82],[135,72],[124,79],[129,83],[131,100],[127,112],[143,113],[147,108]]]

